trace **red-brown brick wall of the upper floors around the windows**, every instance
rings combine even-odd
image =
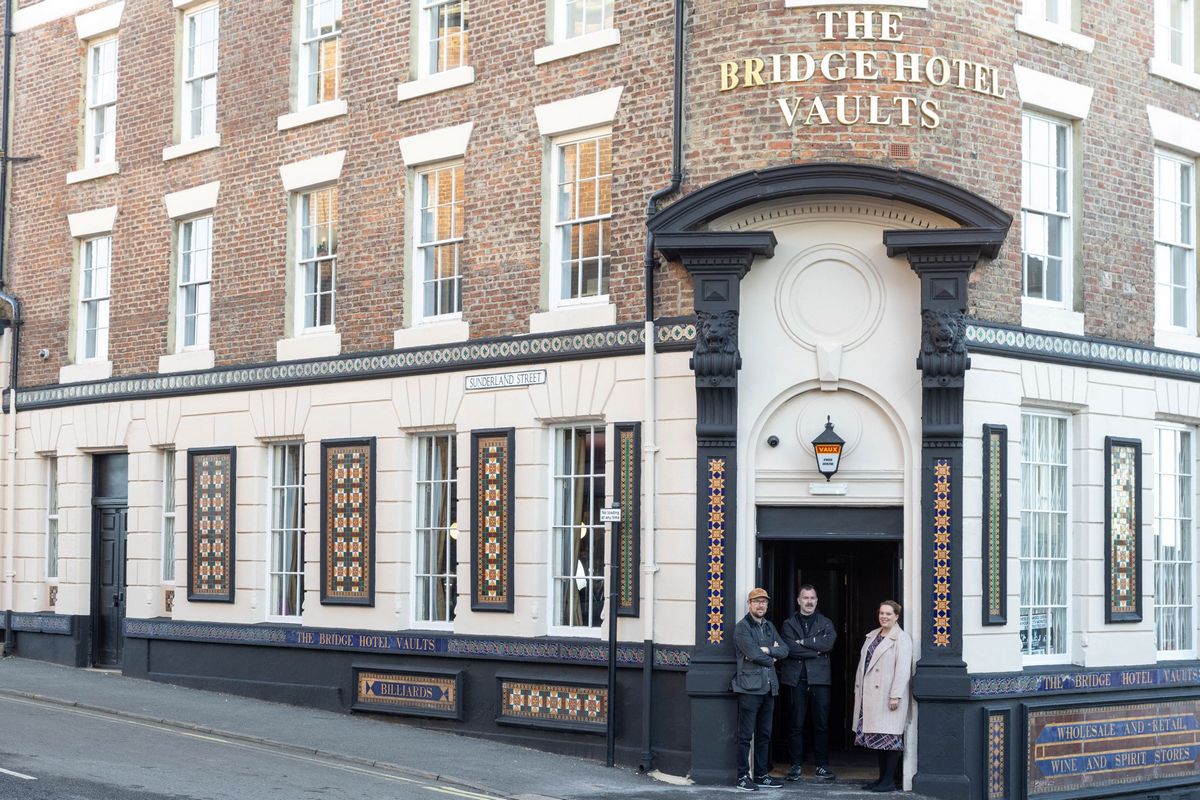
[[[82,44],[72,19],[17,37],[14,155],[37,155],[13,185],[12,288],[26,303],[26,385],[53,383],[67,357],[73,242],[66,213],[118,204],[109,350],[116,374],[154,372],[166,351],[170,224],[164,193],[221,181],[215,215],[212,349],[217,363],[270,361],[286,336],[287,196],[284,163],[346,149],[338,184],[343,212],[337,327],[343,351],[386,349],[404,324],[406,175],[397,140],[474,120],[466,157],[463,307],[472,336],[517,333],[539,307],[544,142],[533,108],[624,85],[613,126],[614,258],[611,293],[622,320],[642,315],[644,209],[670,178],[672,4],[617,0],[622,43],[534,66],[545,43],[541,1],[485,2],[472,11],[472,86],[397,103],[409,73],[409,4],[346,0],[346,118],[278,133],[289,110],[293,4],[223,2],[218,150],[163,163],[172,143],[176,16],[166,2],[131,1],[121,24],[121,174],[66,186],[78,160]],[[689,2],[685,186],[809,161],[880,163],[930,174],[979,193],[1016,218],[1001,255],[972,281],[971,313],[1020,320],[1020,106],[1010,65],[1096,88],[1081,125],[1085,191],[1075,218],[1087,332],[1148,342],[1153,333],[1152,152],[1146,104],[1200,118],[1200,92],[1151,77],[1153,19],[1146,4],[1085,4],[1086,54],[1018,34],[1019,0],[947,0],[902,13],[904,41],[871,42],[966,58],[1000,68],[1003,100],[926,83],[899,90],[941,104],[936,128],[832,125],[788,128],[774,98],[895,92],[893,83],[766,86],[719,91],[718,64],[772,52],[842,49],[821,42],[817,8],[782,0]],[[830,8],[830,7],[827,7]],[[889,145],[911,157],[890,158]],[[686,276],[659,272],[659,314],[691,311]],[[30,357],[40,348],[50,357]]]

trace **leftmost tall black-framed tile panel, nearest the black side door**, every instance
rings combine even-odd
[[[187,599],[233,602],[236,519],[234,447],[187,451]]]

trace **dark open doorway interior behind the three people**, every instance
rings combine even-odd
[[[900,541],[830,539],[816,541],[762,541],[761,573],[770,594],[770,619],[781,628],[796,610],[796,596],[804,584],[817,590],[817,609],[838,631],[830,654],[833,698],[829,709],[829,759],[834,772],[864,776],[875,766],[871,753],[854,747],[851,712],[854,708],[854,670],[866,633],[878,627],[876,610],[883,600],[900,600]],[[902,620],[901,620],[902,621]],[[772,736],[776,764],[790,764],[787,698],[780,697]],[[805,750],[811,747],[811,723],[805,733]],[[805,759],[806,775],[814,765],[811,751]]]

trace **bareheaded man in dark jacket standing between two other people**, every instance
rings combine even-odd
[[[829,651],[838,640],[833,622],[817,610],[817,590],[809,584],[800,587],[796,599],[799,608],[784,621],[787,660],[781,680],[791,687],[792,768],[788,781],[800,780],[804,764],[804,720],[812,720],[812,754],[817,763],[816,776],[834,780],[829,771],[829,702],[833,696],[833,669]]]

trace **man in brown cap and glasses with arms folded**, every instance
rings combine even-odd
[[[764,589],[751,589],[746,596],[746,615],[733,628],[738,654],[738,672],[731,688],[738,696],[738,782],[743,792],[778,789],[782,781],[770,771],[770,718],[779,694],[775,662],[787,657],[787,645],[767,619]],[[750,744],[754,742],[754,771],[750,769]]]

